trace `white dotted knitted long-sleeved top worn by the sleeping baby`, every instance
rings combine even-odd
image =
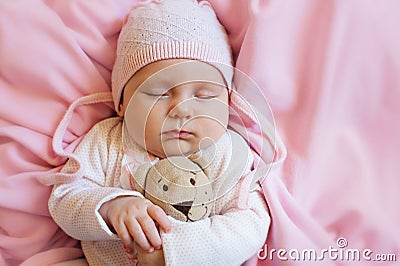
[[[230,153],[236,152],[251,154],[249,149]],[[140,161],[146,152],[138,148],[136,154]],[[118,196],[141,196],[121,186],[122,120],[111,118],[95,125],[75,155],[83,175],[54,186],[49,200],[52,217],[67,234],[81,240],[90,265],[135,264],[98,212],[104,202]],[[220,158],[220,167],[226,159]],[[62,172],[75,173],[76,167],[69,161]],[[262,192],[249,192],[250,167],[251,162],[234,188],[215,201],[209,218],[193,223],[170,218],[172,231],[161,232],[166,265],[239,265],[257,253],[270,218]]]

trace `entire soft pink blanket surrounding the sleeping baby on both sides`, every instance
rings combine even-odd
[[[133,2],[0,2],[1,266],[82,256],[51,220],[51,188],[37,178],[64,163],[51,136],[68,105],[109,90]],[[317,251],[322,265],[356,264],[343,255],[350,249],[360,265],[400,260],[400,2],[211,2],[288,150],[263,183],[272,225],[249,264],[309,265],[304,250]],[[112,114],[109,105],[79,109],[65,147]]]

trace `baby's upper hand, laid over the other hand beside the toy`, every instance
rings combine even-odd
[[[101,206],[99,212],[127,247],[132,248],[135,242],[147,252],[161,247],[161,237],[155,222],[165,232],[171,230],[172,226],[163,209],[147,199],[135,196],[108,201]]]

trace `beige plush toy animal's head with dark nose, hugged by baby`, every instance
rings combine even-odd
[[[189,158],[172,156],[141,165],[131,181],[145,198],[177,220],[193,222],[210,215],[212,182]]]

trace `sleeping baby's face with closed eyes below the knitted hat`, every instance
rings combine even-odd
[[[149,64],[127,83],[128,132],[151,154],[189,155],[216,142],[229,118],[228,90],[213,66],[172,59]]]

